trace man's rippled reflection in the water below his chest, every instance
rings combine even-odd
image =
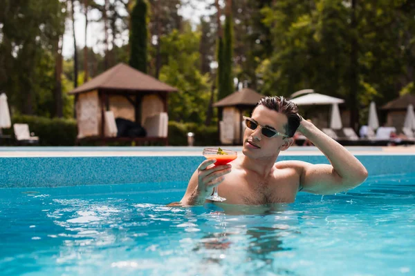
[[[287,209],[282,204],[216,205],[205,227],[202,226],[204,233],[208,230],[206,225],[211,226],[210,233],[199,239],[192,252],[200,255],[204,264],[226,267],[230,263],[242,263],[251,272],[296,275],[275,264],[276,253],[292,250],[284,246],[284,237],[299,234],[297,215]],[[212,226],[216,227],[212,229]]]

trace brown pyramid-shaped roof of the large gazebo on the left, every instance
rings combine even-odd
[[[154,77],[146,75],[125,63],[109,68],[90,81],[75,88],[69,94],[78,94],[95,89],[131,90],[142,92],[176,92],[177,89],[169,86]]]

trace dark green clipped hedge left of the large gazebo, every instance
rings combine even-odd
[[[75,146],[77,125],[74,119],[17,115],[12,124],[28,124],[30,132],[39,137],[39,146]]]

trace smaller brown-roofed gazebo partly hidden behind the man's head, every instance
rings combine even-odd
[[[219,108],[219,138],[225,144],[241,144],[243,140],[243,112],[252,111],[265,97],[250,88],[242,88],[213,104]]]

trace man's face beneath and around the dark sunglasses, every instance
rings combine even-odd
[[[277,132],[286,134],[284,126],[288,124],[288,118],[282,113],[270,110],[265,106],[257,106],[254,112],[252,112],[251,118],[259,126],[266,126]],[[288,138],[279,135],[268,138],[262,135],[261,131],[260,127],[257,127],[255,130],[246,128],[243,135],[242,152],[244,155],[252,158],[273,157],[279,152],[282,146],[286,145]]]

